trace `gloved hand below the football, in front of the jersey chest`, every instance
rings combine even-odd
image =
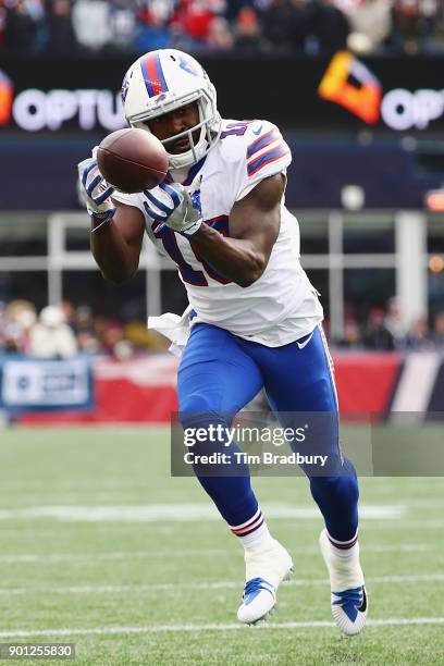
[[[147,214],[153,221],[160,221],[162,226],[166,225],[185,236],[193,236],[202,224],[200,182],[201,175],[189,186],[161,183],[157,188],[157,196],[147,189],[145,196],[149,202],[144,203]],[[157,231],[161,227],[158,226]]]

